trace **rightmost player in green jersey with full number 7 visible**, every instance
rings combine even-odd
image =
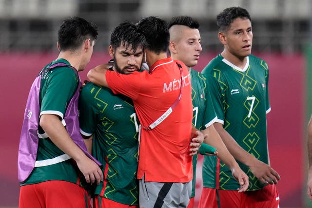
[[[249,189],[215,157],[204,156],[200,208],[277,208],[275,184],[280,180],[270,164],[266,113],[269,113],[267,63],[251,55],[251,18],[243,8],[231,7],[217,16],[218,38],[224,50],[204,68],[217,121],[214,126],[240,167],[249,176]]]

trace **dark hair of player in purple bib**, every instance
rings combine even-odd
[[[58,41],[61,51],[76,50],[86,39],[97,39],[97,25],[85,19],[71,17],[65,19],[59,27]]]

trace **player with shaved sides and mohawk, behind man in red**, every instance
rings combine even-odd
[[[226,151],[226,155],[229,155],[229,157],[222,157],[223,155],[220,155],[223,158],[224,162],[230,165],[234,164],[234,168],[237,168],[237,170],[234,170],[234,174],[237,174],[237,172],[240,171],[240,174],[244,175],[244,177],[248,181],[248,176],[239,168],[232,155],[230,155],[226,148],[224,148],[224,144],[221,138],[217,134],[214,126],[212,125],[216,120],[216,114],[211,97],[209,94],[207,94],[206,78],[199,72],[192,69],[192,67],[197,64],[197,60],[202,50],[200,44],[201,38],[198,28],[198,21],[188,16],[174,17],[169,22],[169,50],[171,57],[173,59],[182,61],[191,74],[193,125],[199,130],[205,129],[206,132],[209,132],[209,135],[216,136],[209,136],[207,142],[209,142],[210,144],[212,144],[213,142],[219,143],[218,145],[220,146],[220,148],[223,148],[220,151]],[[207,119],[207,122],[204,122],[204,115]],[[207,152],[205,150],[209,150],[209,146],[203,143],[199,149],[199,152],[201,152],[202,154],[211,154],[211,152]],[[192,198],[190,200],[188,208],[194,207],[196,163],[197,155],[193,156],[193,189]],[[245,188],[248,188],[247,184]]]

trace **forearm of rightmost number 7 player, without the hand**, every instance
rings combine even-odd
[[[256,158],[252,154],[245,151],[242,147],[240,147],[234,140],[234,138],[226,130],[223,129],[221,123],[214,123],[214,127],[221,136],[221,139],[224,142],[225,146],[228,148],[229,152],[234,156],[236,160],[247,165],[248,167],[255,162]]]

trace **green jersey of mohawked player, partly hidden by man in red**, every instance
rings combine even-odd
[[[192,103],[193,103],[193,126],[196,129],[205,129],[204,115],[209,120],[207,127],[215,120],[215,111],[212,100],[207,91],[206,78],[199,72],[191,69],[191,83],[192,83]],[[196,164],[198,155],[193,156],[193,188],[192,196],[195,197],[196,184]]]

